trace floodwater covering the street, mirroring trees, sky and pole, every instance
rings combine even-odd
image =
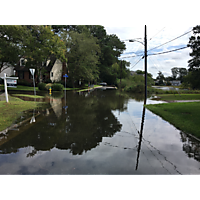
[[[45,101],[0,135],[0,174],[200,174],[200,143],[142,96],[68,91]]]

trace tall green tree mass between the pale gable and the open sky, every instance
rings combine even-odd
[[[129,62],[118,57],[126,49],[116,35],[108,35],[101,25],[52,25],[67,47],[69,81],[104,81],[116,84],[127,76]]]

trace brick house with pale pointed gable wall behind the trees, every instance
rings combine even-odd
[[[27,83],[32,83],[33,78],[30,73],[29,67],[25,67],[26,60],[21,58],[19,64],[14,68],[16,71],[15,75],[19,77],[20,80],[24,80]],[[43,64],[44,74],[40,75],[40,82],[59,82],[63,79],[63,75],[66,74],[66,63],[62,63],[55,56],[50,56],[46,63]],[[37,80],[37,75],[35,74],[35,80]],[[64,80],[64,79],[63,79]]]

